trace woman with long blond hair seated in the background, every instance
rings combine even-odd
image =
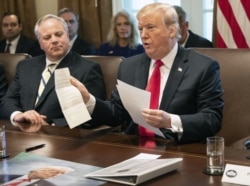
[[[111,20],[108,42],[99,47],[98,54],[126,58],[143,52],[134,17],[125,10],[117,12]]]

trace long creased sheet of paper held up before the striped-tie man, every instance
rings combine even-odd
[[[70,83],[68,68],[55,70],[56,94],[70,128],[77,127],[91,119],[79,90]]]

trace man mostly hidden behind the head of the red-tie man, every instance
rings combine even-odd
[[[181,37],[179,44],[185,48],[199,47],[199,48],[212,48],[213,43],[208,39],[201,37],[191,30],[189,30],[189,22],[187,13],[180,6],[173,6],[179,16],[179,25]]]

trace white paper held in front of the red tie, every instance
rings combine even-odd
[[[149,108],[150,92],[131,86],[120,80],[118,80],[118,84],[116,86],[122,103],[129,112],[133,121],[151,130],[158,136],[165,138],[159,128],[149,125],[142,116],[142,109]]]

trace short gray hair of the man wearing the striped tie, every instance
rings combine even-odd
[[[46,20],[48,20],[48,19],[55,19],[55,20],[58,20],[58,21],[62,24],[63,29],[65,30],[65,32],[68,33],[68,26],[67,26],[67,24],[66,24],[66,22],[64,21],[63,18],[58,17],[58,16],[53,15],[53,14],[47,14],[47,15],[41,17],[41,18],[36,22],[36,25],[35,25],[35,28],[34,28],[34,32],[35,32],[35,35],[36,35],[37,39],[39,39],[39,36],[40,36],[40,35],[39,35],[39,31],[38,31],[40,25],[41,25],[44,21],[46,21]]]

